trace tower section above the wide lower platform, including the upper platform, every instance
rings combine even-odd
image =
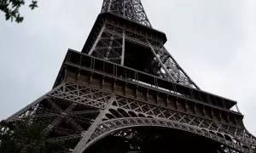
[[[164,32],[152,28],[141,0],[103,0],[82,53],[200,89],[166,50],[166,41]]]

